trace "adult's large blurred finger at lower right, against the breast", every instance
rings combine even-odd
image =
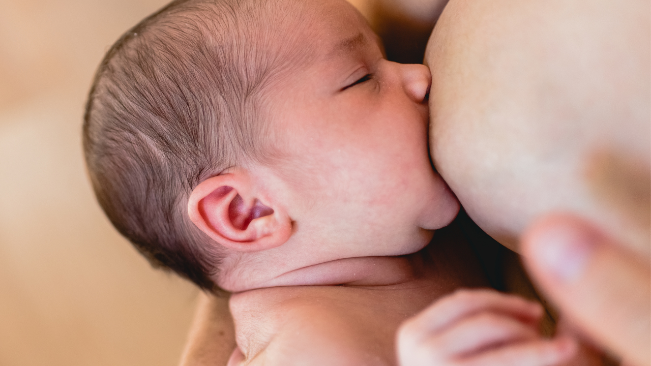
[[[563,315],[635,365],[651,365],[651,270],[589,223],[569,214],[523,235],[531,277]]]

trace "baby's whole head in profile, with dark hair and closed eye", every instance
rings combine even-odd
[[[98,70],[90,177],[152,264],[204,289],[413,253],[458,210],[430,167],[429,84],[344,0],[174,1]]]

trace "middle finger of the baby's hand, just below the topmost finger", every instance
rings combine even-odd
[[[538,338],[538,330],[533,326],[527,326],[505,315],[480,313],[464,318],[452,328],[430,337],[423,344],[441,350],[444,358],[453,358]]]

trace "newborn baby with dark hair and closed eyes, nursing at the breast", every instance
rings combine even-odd
[[[459,210],[428,158],[429,87],[428,68],[387,61],[344,0],[174,1],[98,70],[90,178],[154,266],[234,293],[229,364],[395,364],[402,320],[487,285],[456,229],[421,250]],[[540,341],[538,305],[460,296],[490,301],[449,322],[500,313],[510,328],[450,355],[536,341],[532,365],[571,356],[567,340]]]

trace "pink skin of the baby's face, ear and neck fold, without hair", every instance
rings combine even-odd
[[[428,158],[428,69],[384,59],[344,0],[303,8],[296,26],[310,27],[286,47],[309,57],[265,98],[270,158],[189,199],[195,225],[226,248],[216,281],[232,292],[370,283],[383,272],[373,257],[419,251],[459,209]]]

